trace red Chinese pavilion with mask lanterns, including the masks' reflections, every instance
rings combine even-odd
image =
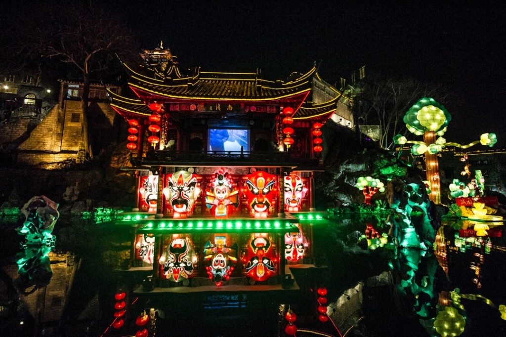
[[[131,269],[152,268],[156,288],[293,284],[290,268],[313,263],[313,172],[341,93],[316,67],[271,81],[186,71],[161,45],[141,56],[123,63],[135,98],[109,92],[137,177],[116,221],[135,228]]]

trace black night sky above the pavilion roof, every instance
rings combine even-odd
[[[496,147],[506,147],[506,6],[365,3],[98,2],[125,17],[141,46],[161,39],[186,67],[261,68],[263,77],[275,79],[316,61],[331,84],[362,65],[368,73],[444,83],[454,94],[446,104],[453,117],[446,138],[470,142],[495,132]]]

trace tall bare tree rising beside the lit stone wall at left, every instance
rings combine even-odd
[[[98,8],[65,2],[44,6],[24,24],[22,44],[25,55],[33,59],[58,60],[82,76],[83,138],[87,155],[93,156],[89,142],[89,94],[92,76],[103,73],[115,53],[136,51],[132,32],[120,17]]]

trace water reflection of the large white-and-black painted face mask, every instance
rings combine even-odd
[[[197,254],[188,238],[174,238],[158,262],[166,279],[181,282],[192,277]]]

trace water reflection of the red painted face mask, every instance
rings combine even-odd
[[[273,256],[268,237],[257,235],[249,242],[247,256],[242,261],[247,261],[244,267],[246,276],[256,281],[265,281],[276,274],[277,265],[274,262],[277,259]]]

